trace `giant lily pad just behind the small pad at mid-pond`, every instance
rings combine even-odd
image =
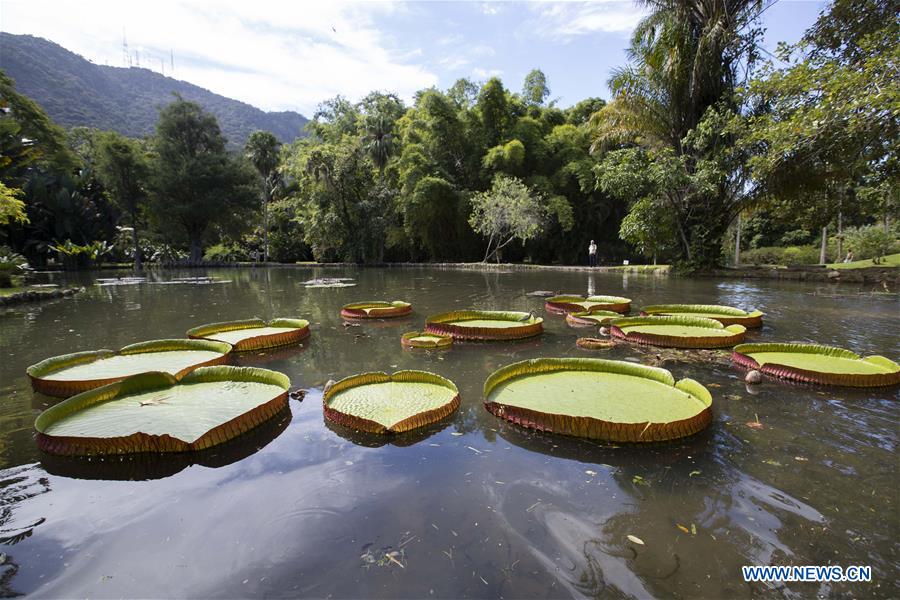
[[[518,340],[543,333],[543,323],[526,312],[456,310],[428,317],[425,331],[459,340]]]

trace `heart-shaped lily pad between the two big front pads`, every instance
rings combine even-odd
[[[341,379],[323,396],[325,418],[369,433],[401,433],[439,421],[459,406],[449,379],[426,371],[363,373]]]

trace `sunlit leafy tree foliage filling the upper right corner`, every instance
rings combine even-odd
[[[896,211],[900,21],[889,0],[835,0],[750,82],[739,143],[767,201],[826,227],[848,205]],[[814,218],[813,222],[807,220]],[[823,235],[823,239],[827,237]]]

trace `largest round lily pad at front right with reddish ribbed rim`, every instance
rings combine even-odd
[[[670,440],[712,419],[712,396],[665,369],[596,358],[538,358],[492,373],[485,408],[524,427],[614,442]]]

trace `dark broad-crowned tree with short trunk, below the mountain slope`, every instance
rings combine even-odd
[[[199,262],[210,227],[239,222],[252,207],[258,176],[225,151],[216,118],[180,98],[160,111],[154,146],[151,210],[163,228],[187,236],[190,260]]]

